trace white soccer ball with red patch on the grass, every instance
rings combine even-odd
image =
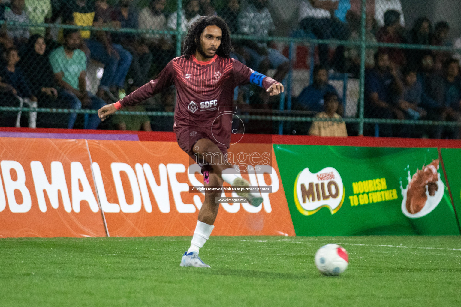
[[[315,266],[320,273],[337,276],[344,272],[349,264],[347,251],[338,244],[326,244],[315,253]]]

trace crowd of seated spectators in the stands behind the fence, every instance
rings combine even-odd
[[[0,19],[15,23],[63,23],[101,28],[145,29],[144,32],[60,29],[8,25],[0,30],[1,105],[27,104],[38,107],[98,109],[101,105],[123,98],[160,72],[176,54],[176,38],[161,31],[180,29],[186,32],[201,16],[219,15],[229,25],[231,34],[261,38],[274,33],[275,23],[268,0],[228,0],[216,6],[213,0],[183,0],[179,12],[168,11],[166,0],[149,0],[138,6],[137,0],[0,0]],[[355,1],[357,2],[357,1]],[[351,0],[302,0],[297,28],[318,39],[359,41],[361,17]],[[400,0],[375,0],[366,16],[366,41],[449,46],[449,24],[438,21],[432,26],[427,17],[418,18],[411,29],[405,28]],[[114,4],[114,6],[112,6]],[[218,8],[218,10],[217,10]],[[160,31],[160,32],[159,32]],[[287,33],[287,35],[289,35]],[[458,41],[461,41],[458,40]],[[283,81],[290,71],[290,61],[272,42],[238,40],[232,58],[250,68]],[[455,42],[456,43],[456,42]],[[458,43],[461,46],[461,43]],[[319,44],[318,64],[313,69],[312,84],[306,84],[296,98],[296,110],[311,111],[313,116],[343,116],[346,99],[329,84],[332,72],[357,78],[360,73],[360,46]],[[365,52],[365,116],[386,119],[461,120],[461,80],[456,54],[445,51],[377,48]],[[461,58],[461,57],[460,57]],[[90,61],[103,67],[95,93],[87,90],[86,71]],[[256,95],[264,103],[269,97]],[[235,99],[241,97],[236,90]],[[174,110],[174,92],[162,94],[158,110]],[[172,101],[172,102],[171,102]],[[135,109],[133,109],[135,110]],[[136,110],[145,110],[142,106]],[[37,123],[36,112],[23,114],[29,127]],[[40,113],[45,118],[45,114]],[[1,125],[20,125],[20,114],[4,112]],[[77,114],[65,120],[72,128]],[[115,116],[118,129],[165,129],[171,127],[152,122],[147,116]],[[165,121],[166,122],[166,121]],[[319,122],[309,133],[323,135],[325,127],[339,127],[343,122]],[[84,127],[95,129],[97,116],[85,118]],[[323,128],[322,128],[323,127]],[[330,128],[325,128],[331,130]],[[323,130],[325,130],[323,129]],[[336,128],[335,128],[336,129]],[[344,133],[343,133],[343,130]],[[416,129],[412,125],[381,124],[366,126],[365,133],[380,136],[459,138],[457,128]]]

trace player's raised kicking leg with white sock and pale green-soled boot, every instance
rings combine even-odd
[[[238,177],[235,174],[235,169],[227,159],[225,159],[222,151],[210,139],[199,139],[192,148],[195,156],[198,156],[199,161],[206,161],[211,165],[215,174],[219,175],[225,182],[232,186],[249,186],[250,183]],[[236,191],[240,197],[245,197],[248,203],[258,207],[263,199],[260,192]]]

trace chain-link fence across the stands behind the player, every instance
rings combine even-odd
[[[171,131],[174,88],[103,123],[95,110],[154,78],[198,17],[218,15],[231,57],[286,88],[236,89],[252,132],[459,138],[455,0],[0,3],[2,126]]]

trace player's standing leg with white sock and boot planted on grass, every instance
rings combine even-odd
[[[222,186],[223,180],[219,175],[211,171],[208,176],[208,183],[205,182],[204,185]],[[214,220],[216,220],[216,216],[218,215],[219,203],[215,202],[215,197],[221,197],[221,192],[205,191],[205,201],[200,209],[194,236],[192,237],[189,250],[184,253],[183,259],[181,259],[181,266],[210,267],[201,261],[199,251],[203,247],[203,244],[207,242],[208,237],[210,237],[214,228]]]

